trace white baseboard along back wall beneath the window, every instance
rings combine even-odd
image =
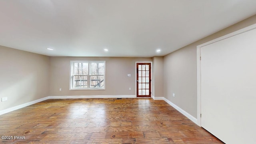
[[[49,96],[48,99],[67,99],[67,98],[136,98],[136,96],[135,95]]]

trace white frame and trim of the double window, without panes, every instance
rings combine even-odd
[[[88,88],[74,88],[73,84],[73,71],[74,71],[74,63],[75,62],[83,62],[83,63],[88,63],[88,75],[87,75],[87,85]],[[104,63],[104,88],[90,88],[90,63]],[[88,60],[70,60],[70,79],[69,79],[69,90],[105,90],[106,89],[106,61],[88,61]]]

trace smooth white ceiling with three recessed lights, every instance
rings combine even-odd
[[[256,0],[0,0],[0,45],[47,56],[164,56],[254,14]]]

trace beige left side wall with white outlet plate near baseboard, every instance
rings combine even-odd
[[[0,110],[49,95],[50,58],[0,46]]]

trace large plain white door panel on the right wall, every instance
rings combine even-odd
[[[256,135],[256,29],[201,47],[201,126],[227,144]]]

